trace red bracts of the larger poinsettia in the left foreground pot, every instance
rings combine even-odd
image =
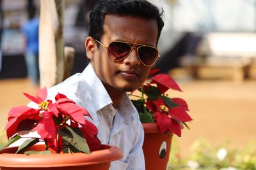
[[[78,128],[83,132],[90,150],[100,148],[97,127],[84,118],[84,116],[90,117],[90,114],[74,101],[63,94],[57,94],[56,102],[52,103],[51,100],[46,100],[46,88],[38,90],[36,96],[26,93],[24,95],[38,104],[38,108],[18,106],[10,110],[8,124],[5,127],[8,139],[16,133],[24,134],[25,131],[37,131],[40,139],[44,140],[46,144],[52,144],[50,147],[54,150],[60,151],[63,139],[58,134],[65,127],[71,127]]]

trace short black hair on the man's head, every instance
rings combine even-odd
[[[156,19],[158,26],[157,41],[164,26],[163,9],[146,0],[100,0],[90,13],[89,36],[101,38],[106,15],[132,15],[148,19]]]

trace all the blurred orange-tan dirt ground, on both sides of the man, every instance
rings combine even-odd
[[[170,91],[172,97],[181,97],[189,104],[193,122],[190,130],[184,129],[177,138],[181,155],[189,152],[189,146],[198,138],[205,138],[212,145],[230,141],[234,148],[243,148],[256,139],[256,81],[190,80],[178,81],[184,92]],[[12,106],[28,103],[22,92],[35,94],[38,87],[28,79],[0,80],[0,131],[6,124],[7,113]],[[6,139],[0,132],[0,141]]]

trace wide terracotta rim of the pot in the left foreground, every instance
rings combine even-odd
[[[43,148],[44,145],[34,145],[35,148]],[[17,150],[17,146],[3,150],[10,152]],[[58,155],[56,157],[56,155]],[[86,166],[102,164],[113,160],[122,159],[120,148],[112,145],[102,145],[102,150],[87,153],[53,153],[49,155],[25,155],[15,153],[1,153],[0,167],[62,167],[62,166]],[[60,161],[61,160],[61,161]]]

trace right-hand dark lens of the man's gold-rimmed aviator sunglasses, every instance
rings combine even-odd
[[[138,55],[140,57],[141,62],[146,66],[150,66],[156,62],[158,57],[158,51],[156,48],[152,48],[150,46],[140,46],[138,49]]]

